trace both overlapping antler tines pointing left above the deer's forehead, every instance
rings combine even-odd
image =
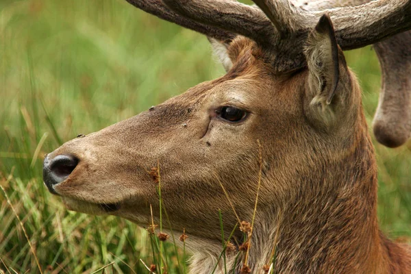
[[[240,34],[262,45],[274,42],[275,29],[261,10],[236,1],[126,1],[140,10],[218,40],[232,40]]]

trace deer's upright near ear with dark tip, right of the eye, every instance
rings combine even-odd
[[[325,125],[336,121],[341,105],[347,104],[349,72],[343,51],[338,47],[332,21],[327,14],[309,34],[306,45],[308,64],[308,112]],[[344,79],[344,81],[340,81]]]

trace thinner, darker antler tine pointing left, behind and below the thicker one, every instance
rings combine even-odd
[[[171,23],[176,23],[177,25],[181,25],[182,27],[186,27],[188,29],[192,29],[196,32],[201,34],[205,34],[212,38],[216,38],[221,41],[229,41],[234,39],[237,35],[232,32],[227,32],[224,29],[218,27],[212,27],[208,24],[199,23],[197,21],[193,21],[190,18],[186,18],[173,12],[167,7],[162,0],[126,0],[128,3],[134,5],[136,8],[140,10],[144,10],[149,14],[153,14],[162,18],[166,21]]]

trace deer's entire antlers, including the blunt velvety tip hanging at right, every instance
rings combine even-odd
[[[218,40],[229,41],[236,34],[247,36],[265,49],[277,73],[306,66],[306,37],[319,17],[327,13],[343,50],[375,44],[384,81],[374,121],[377,140],[395,147],[410,135],[411,83],[407,75],[411,73],[411,58],[406,45],[410,45],[411,38],[400,33],[411,29],[411,0],[300,0],[300,5],[286,0],[253,0],[261,10],[229,0],[127,1]],[[379,42],[390,36],[394,37]]]

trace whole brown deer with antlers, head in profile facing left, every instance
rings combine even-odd
[[[222,249],[218,211],[226,235],[232,208],[251,221],[260,180],[249,269],[227,254],[235,273],[264,273],[274,248],[273,273],[411,273],[410,246],[379,229],[375,151],[343,53],[373,45],[383,81],[373,131],[403,145],[410,0],[127,2],[205,34],[226,74],[64,143],[45,156],[49,192],[69,210],[144,227],[159,221],[147,172],[158,166],[173,229],[189,236],[190,273],[208,274]],[[240,229],[232,237],[238,248]]]

